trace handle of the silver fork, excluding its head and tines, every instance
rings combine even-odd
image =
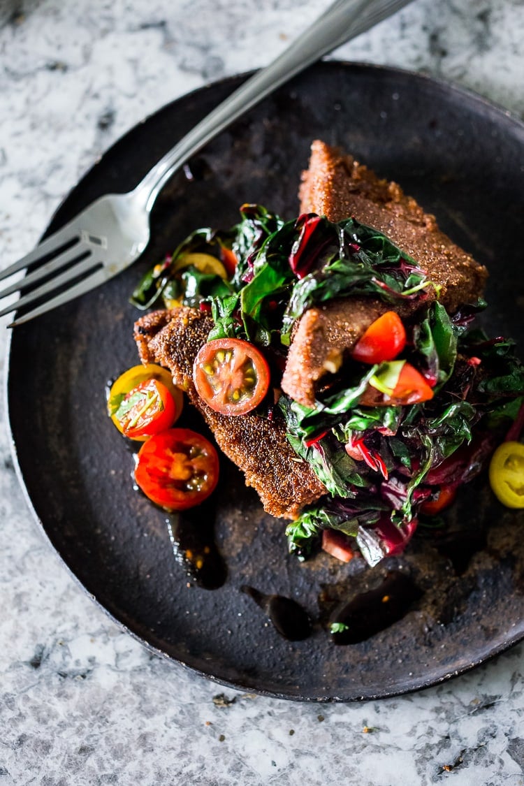
[[[273,63],[247,79],[156,163],[137,185],[147,210],[163,186],[194,153],[277,87],[337,46],[407,5],[410,0],[335,0]]]

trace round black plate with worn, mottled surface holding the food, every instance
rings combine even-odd
[[[131,130],[72,191],[49,230],[102,193],[134,186],[239,82],[183,97]],[[421,533],[405,558],[372,571],[325,555],[299,564],[286,553],[283,523],[262,512],[224,461],[213,504],[193,514],[214,526],[227,571],[222,586],[205,589],[174,558],[165,514],[134,492],[132,454],[105,415],[107,380],[137,362],[137,313],[127,302],[137,278],[196,226],[236,222],[246,201],[295,215],[314,138],[401,183],[486,263],[487,327],[522,347],[522,123],[421,75],[320,64],[208,145],[190,176],[173,178],[134,268],[14,331],[9,416],[20,474],[49,540],[87,592],[145,645],[250,691],[367,699],[433,685],[522,638],[522,516],[493,501],[482,476],[449,514],[451,534]],[[361,641],[335,645],[326,630],[334,605],[375,588],[388,571],[409,577],[407,593],[392,587],[405,595],[400,619],[387,624],[375,604],[362,612]],[[313,619],[310,637],[282,637],[243,585],[298,600]]]

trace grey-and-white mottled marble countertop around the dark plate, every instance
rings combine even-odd
[[[0,266],[123,132],[268,63],[326,5],[0,2]],[[415,0],[333,57],[438,75],[524,116],[522,0]],[[152,656],[82,593],[27,508],[0,417],[0,786],[524,784],[522,645],[389,700],[223,689]]]

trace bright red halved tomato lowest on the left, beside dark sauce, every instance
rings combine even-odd
[[[146,497],[166,510],[200,505],[218,483],[218,454],[189,428],[150,437],[137,454],[134,479]]]

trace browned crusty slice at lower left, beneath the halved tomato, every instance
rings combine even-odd
[[[271,516],[295,518],[326,489],[291,448],[283,421],[257,415],[227,417],[211,410],[196,393],[192,365],[213,326],[210,317],[192,308],[154,311],[139,319],[134,337],[142,362],[170,369],[176,384],[202,413],[218,446],[245,474]]]

